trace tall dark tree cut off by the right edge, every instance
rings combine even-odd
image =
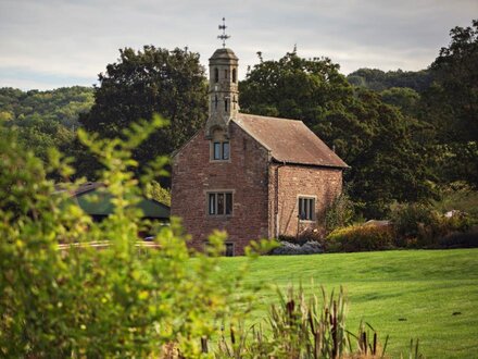
[[[478,188],[478,20],[454,27],[450,36],[430,66],[436,81],[424,94],[423,119],[437,132],[442,180]]]

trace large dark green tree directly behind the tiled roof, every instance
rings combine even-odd
[[[414,141],[416,121],[366,89],[354,89],[328,59],[287,53],[262,61],[240,83],[241,109],[302,120],[351,170],[353,200],[366,216],[381,216],[393,200],[430,196],[423,149]]]

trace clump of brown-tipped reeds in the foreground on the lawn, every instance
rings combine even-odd
[[[383,357],[383,347],[365,325],[357,335],[345,327],[347,305],[342,289],[336,297],[327,298],[322,288],[322,300],[315,295],[306,299],[304,292],[290,287],[287,296],[278,290],[279,306],[271,305],[264,325],[231,324],[229,333],[219,339],[216,355],[221,358],[378,358]]]

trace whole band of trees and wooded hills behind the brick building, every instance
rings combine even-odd
[[[450,35],[450,45],[420,72],[361,69],[345,77],[327,58],[260,58],[239,84],[241,111],[302,120],[351,166],[347,190],[365,218],[386,216],[393,202],[437,198],[457,181],[476,189],[478,21]],[[140,172],[206,120],[205,71],[187,49],[125,48],[99,83],[47,92],[3,89],[0,113],[38,156],[48,146],[66,150],[77,175],[90,180],[101,164],[86,154],[74,126],[112,138],[138,119],[168,119],[133,153]]]

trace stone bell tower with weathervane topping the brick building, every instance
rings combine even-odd
[[[226,48],[225,18],[219,25],[223,34],[217,36],[223,40],[223,48],[217,49],[209,59],[209,117],[205,124],[205,136],[211,138],[214,131],[224,131],[229,137],[229,121],[236,117],[239,111],[238,90],[238,58],[232,50]]]

